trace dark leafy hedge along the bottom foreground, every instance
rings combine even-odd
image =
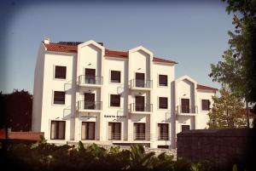
[[[9,145],[8,155],[3,157],[2,167],[9,170],[32,171],[118,171],[118,170],[152,170],[152,171],[210,171],[208,164],[193,164],[188,159],[172,155],[146,152],[143,145],[132,145],[130,150],[121,150],[113,146],[106,150],[96,144],[51,145],[44,139],[40,142]]]

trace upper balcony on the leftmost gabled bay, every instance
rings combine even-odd
[[[84,87],[102,87],[103,77],[102,76],[79,76],[79,86]]]

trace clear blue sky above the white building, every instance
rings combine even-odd
[[[71,3],[72,2],[72,3]],[[1,1],[0,91],[33,91],[38,48],[50,42],[95,40],[106,48],[139,45],[154,56],[175,60],[175,77],[220,88],[208,77],[222,60],[233,31],[226,4],[214,1]]]

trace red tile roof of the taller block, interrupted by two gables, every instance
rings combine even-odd
[[[67,44],[63,44],[63,43],[49,43],[49,44],[44,43],[44,46],[49,51],[64,52],[64,53],[78,53],[78,47],[76,45],[67,45]],[[117,57],[117,58],[128,58],[128,52],[110,50],[110,49],[106,48],[105,56]],[[169,63],[169,64],[177,64],[176,61],[165,60],[165,59],[157,58],[157,57],[153,57],[153,61]]]

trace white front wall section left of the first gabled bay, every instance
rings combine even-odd
[[[75,109],[72,95],[75,94],[76,80],[76,55],[75,54],[57,54],[48,52],[44,57],[44,94],[42,107],[41,131],[44,132],[46,139],[50,139],[50,121],[66,119],[66,140],[73,138],[73,127],[71,120]],[[66,79],[55,79],[55,66],[66,66]],[[65,85],[67,86],[65,87]],[[65,105],[55,105],[54,91],[66,91]],[[73,102],[73,103],[72,103]],[[70,110],[70,113],[64,113],[64,110]],[[65,115],[64,115],[65,114]]]

